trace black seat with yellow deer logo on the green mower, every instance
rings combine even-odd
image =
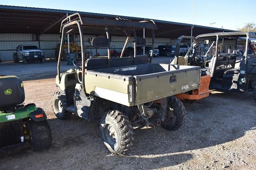
[[[0,76],[0,108],[20,105],[25,100],[21,79],[14,75]]]

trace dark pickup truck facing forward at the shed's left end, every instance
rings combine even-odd
[[[44,62],[44,51],[41,51],[36,45],[18,45],[16,53],[13,53],[13,61],[18,63],[22,61],[26,64],[27,61]]]

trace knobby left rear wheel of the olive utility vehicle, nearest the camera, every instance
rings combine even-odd
[[[132,125],[122,112],[111,110],[100,120],[100,136],[112,154],[125,154],[134,143]]]

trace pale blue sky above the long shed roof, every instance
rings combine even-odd
[[[0,4],[193,24],[193,0],[0,0]],[[255,0],[194,0],[194,24],[237,30],[248,22],[256,23],[255,6]]]

